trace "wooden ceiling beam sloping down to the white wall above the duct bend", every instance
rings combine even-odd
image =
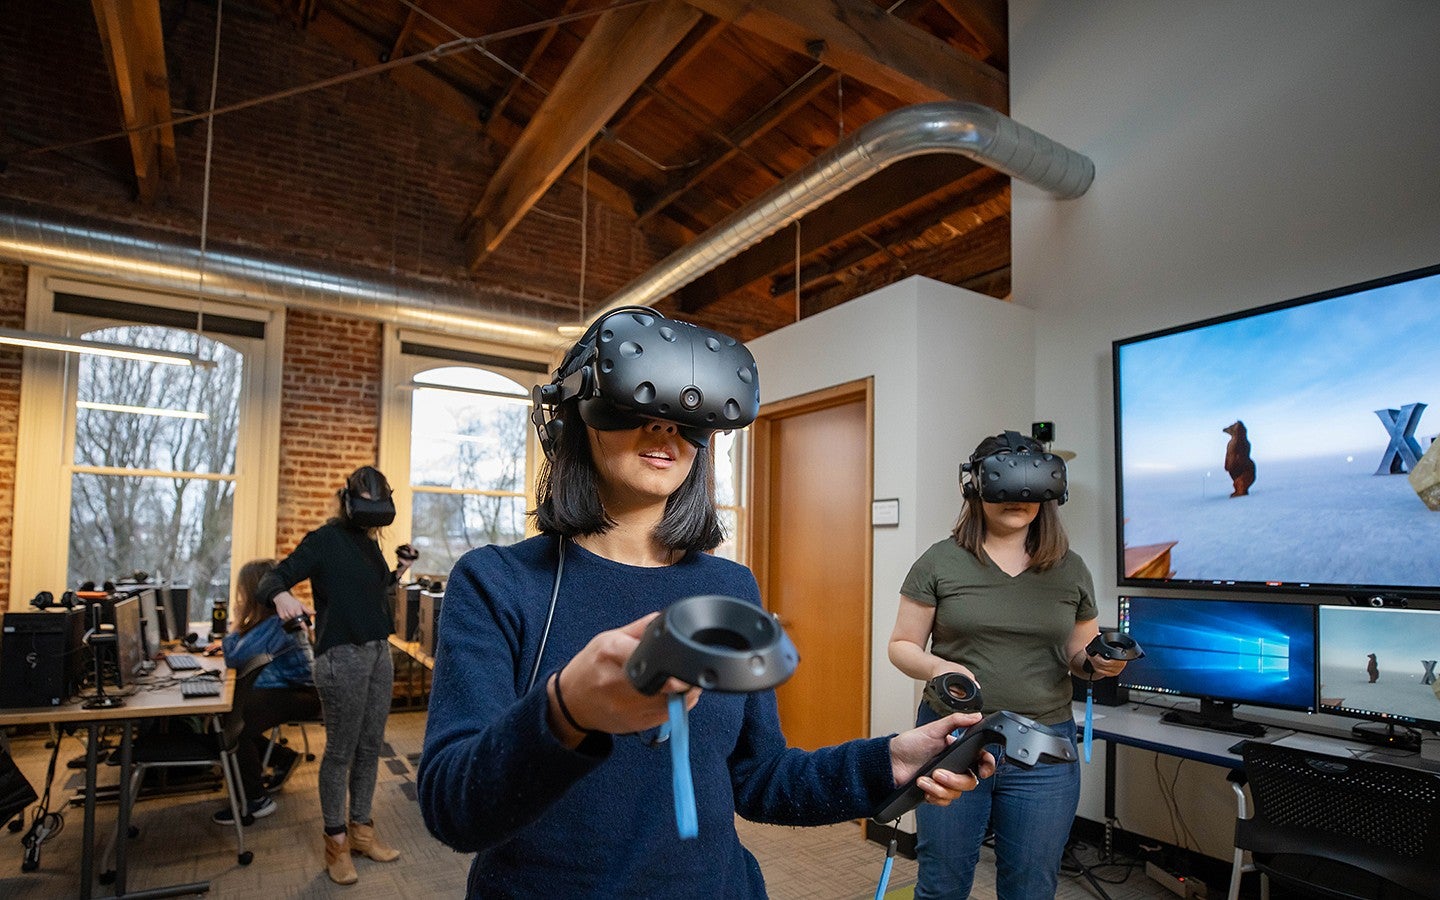
[[[958,99],[1009,109],[1009,79],[871,0],[688,0],[907,104]]]

